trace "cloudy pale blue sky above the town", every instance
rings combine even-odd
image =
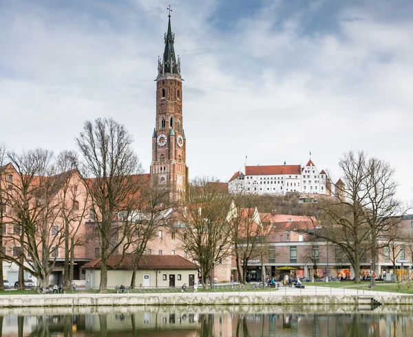
[[[0,0],[0,142],[59,153],[112,117],[148,172],[169,4],[190,178],[311,151],[338,179],[362,150],[412,199],[411,0]]]

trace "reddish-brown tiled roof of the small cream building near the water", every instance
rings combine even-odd
[[[100,269],[102,263],[101,259],[94,259],[93,261],[87,262],[82,268],[92,268]],[[123,256],[121,254],[111,255],[107,259],[107,267],[109,269],[133,269],[134,263],[136,261],[136,255],[126,254]],[[158,270],[158,269],[184,269],[184,270],[194,270],[197,269],[196,265],[179,255],[143,255],[138,264],[138,269],[140,270]]]

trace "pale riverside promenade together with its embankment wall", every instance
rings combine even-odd
[[[413,305],[413,295],[308,286],[271,291],[134,292],[96,294],[10,294],[0,307],[85,307],[133,305]]]

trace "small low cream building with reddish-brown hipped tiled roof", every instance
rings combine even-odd
[[[114,254],[107,260],[108,289],[125,285],[129,287],[136,263],[135,254]],[[85,270],[86,289],[97,289],[100,283],[101,259],[94,259],[82,266]],[[136,271],[136,287],[193,286],[198,281],[195,263],[179,255],[143,255]]]

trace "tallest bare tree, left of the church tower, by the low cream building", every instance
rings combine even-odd
[[[81,173],[92,201],[92,217],[99,232],[101,269],[99,292],[107,290],[107,259],[114,252],[125,253],[130,246],[131,217],[138,193],[136,174],[142,166],[132,149],[132,136],[112,118],[86,121],[76,138],[83,155]],[[123,212],[119,221],[118,213]]]

